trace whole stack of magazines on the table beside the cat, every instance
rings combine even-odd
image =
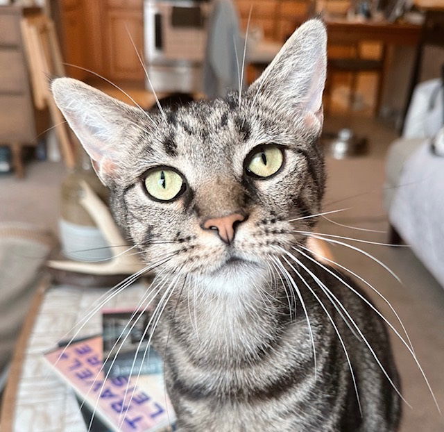
[[[105,310],[103,335],[60,344],[45,354],[76,392],[91,432],[174,430],[163,362],[148,346],[147,320],[148,313]]]

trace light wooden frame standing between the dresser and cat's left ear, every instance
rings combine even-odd
[[[22,19],[22,35],[35,106],[40,110],[49,109],[65,165],[68,168],[73,168],[76,163],[77,139],[71,133],[62,113],[57,108],[49,88],[50,79],[53,76],[65,76],[54,24],[49,17],[43,14],[24,17]]]

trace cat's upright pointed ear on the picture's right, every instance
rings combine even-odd
[[[327,33],[319,19],[302,24],[250,87],[284,109],[306,113],[322,126],[322,94],[327,69]],[[318,124],[316,124],[318,123]]]

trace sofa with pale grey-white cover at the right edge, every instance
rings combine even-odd
[[[391,242],[405,242],[444,287],[443,84],[421,83],[413,94],[402,138],[386,157],[384,204]]]

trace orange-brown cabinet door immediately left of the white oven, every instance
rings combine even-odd
[[[136,53],[137,49],[143,59],[144,23],[142,9],[109,9],[105,27],[105,49],[108,58],[109,78],[111,80],[143,81],[144,69]],[[135,47],[130,37],[133,38]]]

